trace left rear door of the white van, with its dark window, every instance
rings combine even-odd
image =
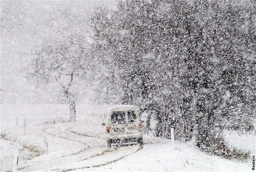
[[[111,113],[111,134],[125,134],[127,132],[127,121],[125,111],[112,111]]]

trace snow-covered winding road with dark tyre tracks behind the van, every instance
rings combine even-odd
[[[59,147],[59,153],[50,151],[47,155],[20,164],[18,166],[19,171],[70,171],[81,168],[101,167],[117,162],[139,151],[139,146],[108,149],[105,140],[99,136],[85,136],[84,134],[72,131],[72,127],[64,128],[64,126],[65,124],[47,127],[43,129],[43,132],[50,137],[73,142],[74,145],[77,145],[77,150],[63,155],[66,151]],[[59,130],[59,128],[62,129]],[[73,148],[74,145],[72,145]]]

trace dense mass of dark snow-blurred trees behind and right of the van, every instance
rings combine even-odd
[[[248,156],[222,131],[255,130],[256,1],[126,0],[97,8],[91,27],[105,102],[141,106],[157,137],[174,127],[205,152]]]

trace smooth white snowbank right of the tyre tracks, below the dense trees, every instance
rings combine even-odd
[[[175,142],[144,145],[116,163],[78,171],[251,171],[251,162],[233,162],[209,156],[191,144]]]

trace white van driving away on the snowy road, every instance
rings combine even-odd
[[[121,146],[138,143],[143,145],[141,111],[138,106],[118,105],[109,108],[104,123],[107,146]]]

